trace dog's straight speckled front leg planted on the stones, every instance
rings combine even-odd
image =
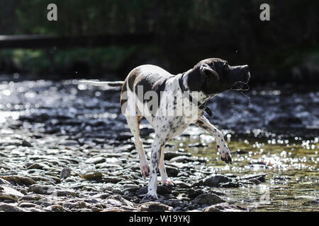
[[[165,143],[161,142],[158,134],[155,134],[154,143],[152,144],[151,163],[150,163],[150,182],[148,182],[147,194],[145,200],[156,200],[157,197],[157,168],[160,151],[164,148]]]

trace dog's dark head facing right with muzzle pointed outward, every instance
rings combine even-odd
[[[230,66],[228,61],[210,58],[200,61],[189,71],[187,85],[192,91],[216,95],[225,90],[242,90],[249,80],[248,65]]]

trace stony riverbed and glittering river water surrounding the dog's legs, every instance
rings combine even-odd
[[[278,196],[287,182],[306,183],[295,189],[297,194],[308,189],[308,197],[298,201],[306,210],[318,210],[318,92],[298,93],[293,101],[280,90],[257,89],[245,95],[228,92],[211,103],[211,121],[227,129],[223,132],[233,165],[219,160],[212,136],[191,126],[165,149],[167,174],[176,186],[159,183],[159,200],[142,202],[148,180],[140,174],[118,90],[77,81],[3,81],[0,211],[279,210],[272,197],[259,191],[279,189]],[[142,123],[142,141],[150,155],[153,133]],[[284,133],[287,126],[291,131]],[[267,146],[281,141],[286,154],[281,147]],[[301,145],[303,141],[308,143]],[[267,148],[268,153],[260,153]],[[279,168],[301,176],[278,173]],[[300,208],[293,204],[295,208],[287,209]]]

